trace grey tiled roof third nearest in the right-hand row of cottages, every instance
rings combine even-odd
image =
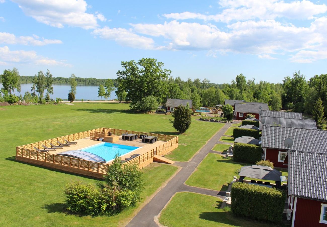
[[[267,117],[263,116],[261,119],[265,119],[265,124],[268,126],[280,126],[290,127],[298,129],[317,129],[316,121],[313,119],[294,119],[294,118],[282,118],[282,117]],[[260,119],[260,120],[261,120]],[[260,122],[259,130],[262,130],[263,124]]]

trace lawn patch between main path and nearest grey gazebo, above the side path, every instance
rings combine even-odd
[[[234,162],[232,159],[225,159],[221,155],[209,153],[185,183],[201,188],[226,191],[228,183],[233,180],[233,176],[239,177],[238,170],[247,165],[250,164]],[[287,176],[286,169],[276,169],[282,171],[282,175]],[[246,177],[245,179],[250,180],[252,178]],[[269,182],[275,183],[274,181]]]

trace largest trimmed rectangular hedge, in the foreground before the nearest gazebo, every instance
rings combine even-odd
[[[232,184],[231,196],[231,210],[237,216],[274,223],[282,221],[286,199],[284,191],[236,182]]]

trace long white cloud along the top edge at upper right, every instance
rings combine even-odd
[[[164,17],[174,20],[200,19],[230,23],[231,21],[268,20],[276,18],[313,19],[327,12],[325,4],[314,4],[308,0],[285,3],[280,0],[220,0],[221,13],[204,15],[194,12],[168,13]]]

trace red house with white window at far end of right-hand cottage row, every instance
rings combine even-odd
[[[259,108],[261,107],[261,109]],[[247,103],[235,103],[234,105],[234,116],[236,120],[244,120],[247,114],[255,115],[256,119],[259,119],[259,111],[260,110],[269,110],[268,105],[266,103],[255,103],[255,102],[247,102]]]

